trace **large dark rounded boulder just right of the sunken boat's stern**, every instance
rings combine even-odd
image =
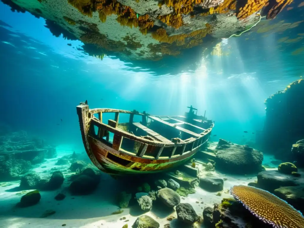
[[[216,147],[216,169],[226,173],[247,174],[262,171],[263,153],[247,145],[224,144]]]

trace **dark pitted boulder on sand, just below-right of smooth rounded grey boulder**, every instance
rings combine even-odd
[[[176,206],[177,219],[183,223],[192,224],[199,216],[189,203],[180,203]]]

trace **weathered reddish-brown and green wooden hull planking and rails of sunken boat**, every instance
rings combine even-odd
[[[191,124],[187,125],[195,127],[195,130],[203,130],[203,133],[198,134],[180,127],[182,126],[180,123],[177,123],[178,126],[173,126],[165,122],[164,125],[168,128],[193,135],[186,140],[178,139],[173,142],[173,139],[172,141],[168,140],[144,126],[142,129],[145,129],[155,139],[150,136],[136,136],[133,133],[120,130],[117,126],[121,112],[130,114],[130,125],[134,124],[140,127],[140,123],[133,123],[133,115],[135,115],[133,112],[118,109],[89,109],[88,105],[85,104],[78,105],[77,112],[82,140],[88,156],[97,168],[113,175],[148,174],[175,168],[191,159],[199,148],[209,140],[213,127],[213,123],[212,127],[207,130],[197,126],[188,126]],[[102,113],[104,112],[114,112],[115,120],[109,120],[108,124],[102,123]],[[98,113],[98,119],[94,116],[96,113]],[[144,114],[136,113],[136,115],[142,115],[143,120],[146,118]],[[164,123],[157,117],[151,116],[151,118]],[[98,128],[97,132],[95,132],[95,127]],[[109,132],[114,134],[112,142],[109,141]],[[140,146],[136,147],[135,152],[130,152],[123,148],[123,140],[133,142],[133,145],[139,143]]]

